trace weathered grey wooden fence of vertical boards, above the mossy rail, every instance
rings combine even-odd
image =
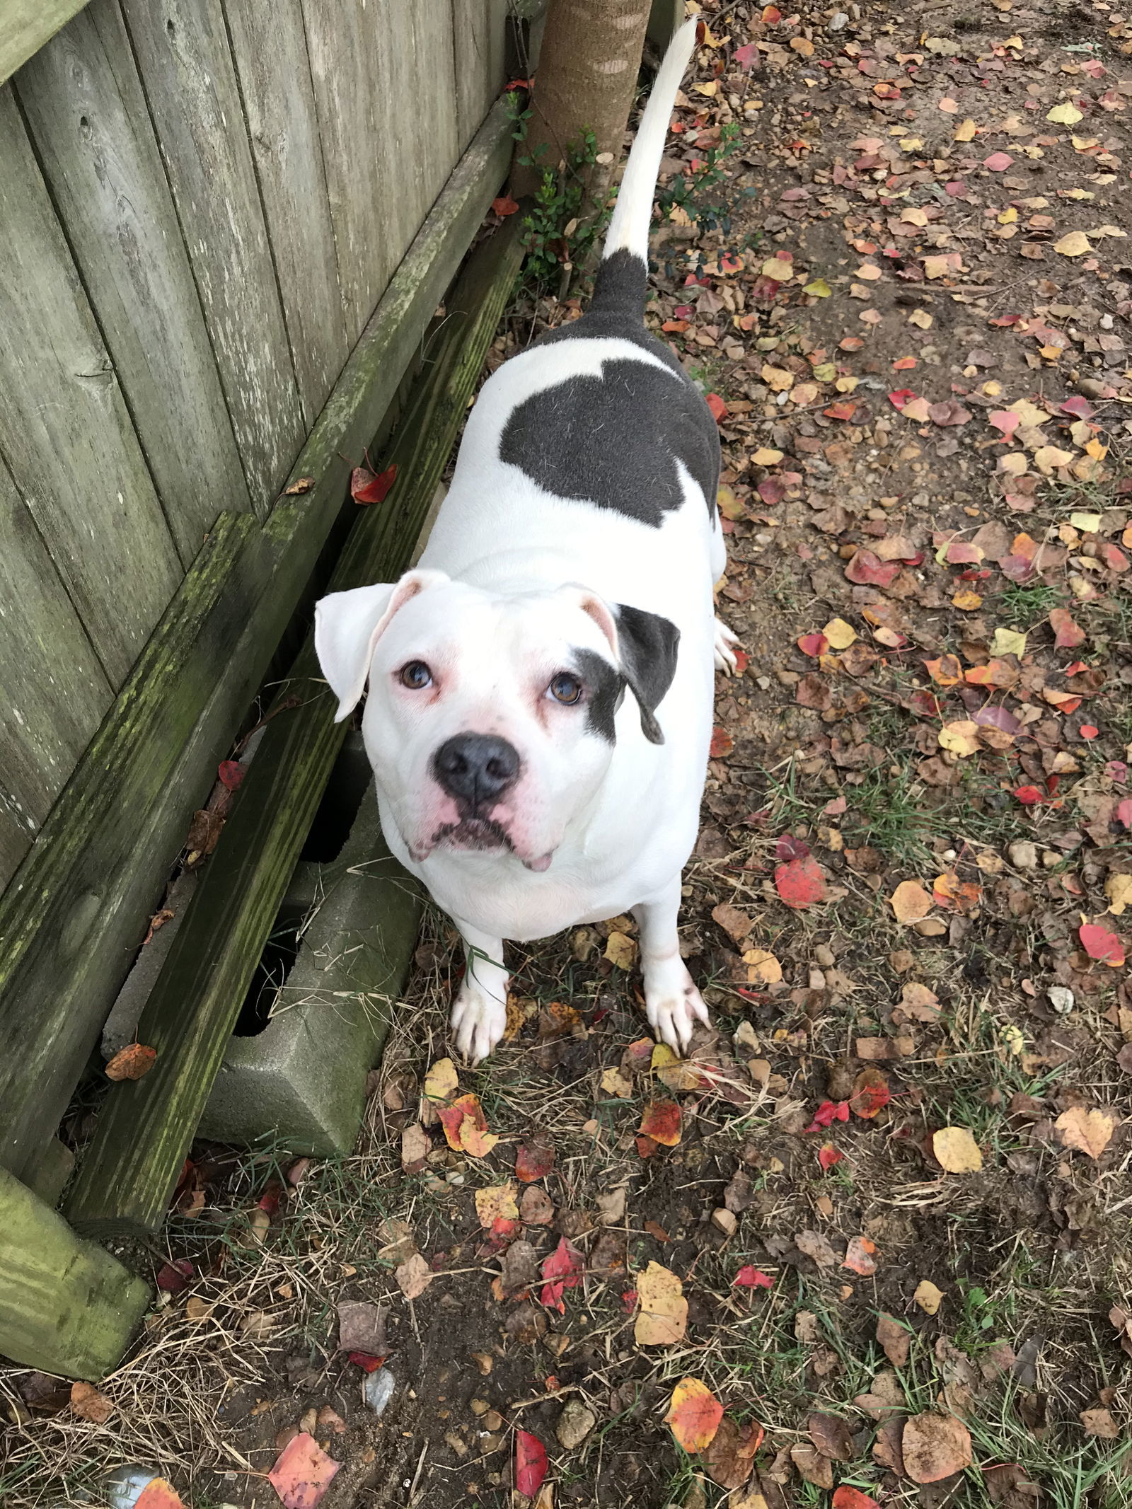
[[[18,60],[75,5],[3,9]],[[92,0],[0,88],[0,887],[217,515],[269,516],[504,9]]]

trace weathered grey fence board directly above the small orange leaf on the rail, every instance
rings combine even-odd
[[[124,11],[263,515],[303,423],[220,0],[124,0]]]

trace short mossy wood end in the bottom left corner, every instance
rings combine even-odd
[[[66,1378],[118,1366],[149,1286],[0,1168],[0,1352]]]

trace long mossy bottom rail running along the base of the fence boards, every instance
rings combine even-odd
[[[0,898],[0,1166],[53,1135],[145,933],[193,809],[263,679],[401,373],[510,155],[484,121],[258,525],[220,515],[103,727]],[[284,877],[285,880],[285,877]]]

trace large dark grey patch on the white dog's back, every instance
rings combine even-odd
[[[635,329],[640,344],[660,346]],[[684,373],[670,376],[651,362],[617,359],[602,364],[601,377],[568,377],[516,404],[500,459],[560,498],[580,498],[660,528],[664,515],[684,502],[678,460],[714,509],[720,442],[711,410]]]

